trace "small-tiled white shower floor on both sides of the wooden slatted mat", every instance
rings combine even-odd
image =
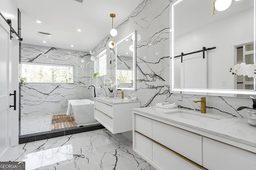
[[[98,122],[78,124],[79,126],[94,125]],[[22,117],[20,121],[20,135],[46,132],[52,129],[52,115]]]

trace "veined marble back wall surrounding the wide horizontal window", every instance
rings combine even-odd
[[[74,83],[28,83],[22,87],[21,117],[66,113],[68,100],[88,99],[93,90],[86,63],[90,54],[54,47],[22,44],[21,62],[48,63],[74,66]],[[81,60],[84,60],[82,63]],[[84,65],[82,68],[81,65]]]

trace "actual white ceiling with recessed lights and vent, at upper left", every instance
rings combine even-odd
[[[90,51],[109,34],[111,13],[116,14],[115,28],[143,0],[84,0],[82,4],[74,0],[14,1],[22,17],[22,43]],[[52,38],[43,38],[38,32],[51,34]]]

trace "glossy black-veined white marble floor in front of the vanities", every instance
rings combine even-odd
[[[130,140],[106,129],[20,144],[0,161],[25,161],[26,170],[155,170]]]

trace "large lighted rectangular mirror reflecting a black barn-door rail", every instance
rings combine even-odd
[[[232,75],[255,61],[255,0],[232,0],[213,12],[214,0],[176,0],[171,7],[172,91],[256,94],[255,79]],[[220,0],[216,0],[220,3]]]

